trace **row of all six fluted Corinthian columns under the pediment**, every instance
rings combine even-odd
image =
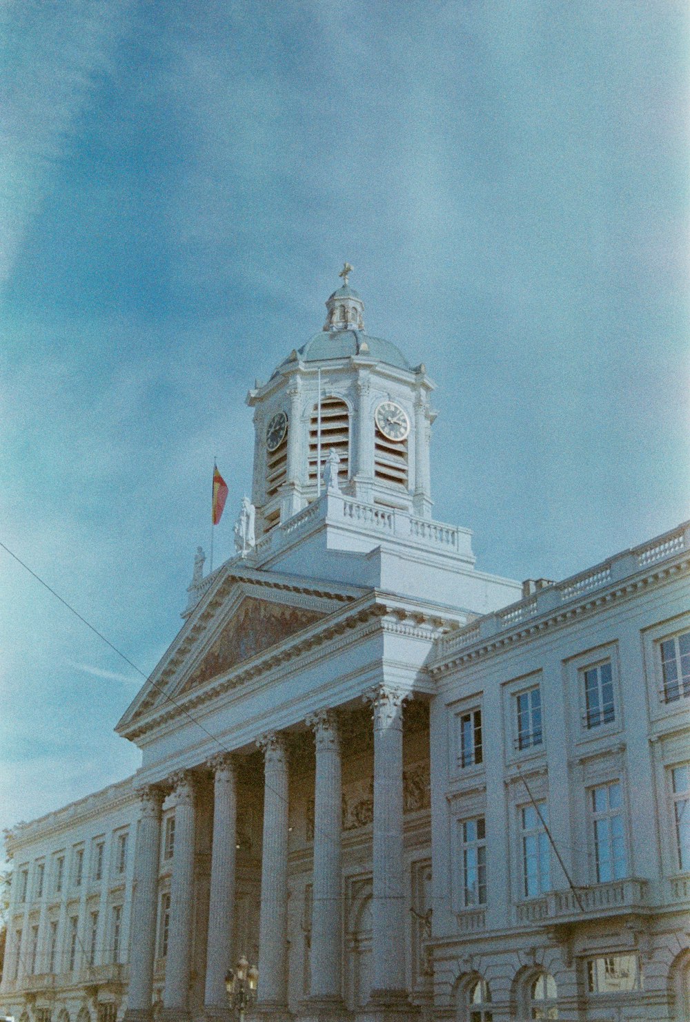
[[[402,704],[389,687],[369,697],[374,712],[373,990],[372,1009],[399,1007],[405,993]],[[311,988],[300,1016],[338,1017],[342,1001],[342,752],[338,715],[323,710],[306,724],[315,742]],[[264,756],[263,847],[256,1010],[273,1018],[288,1012],[288,754],[286,735],[272,732],[257,745]],[[213,773],[205,1014],[227,1013],[225,976],[233,955],[237,829],[236,760],[232,753],[205,763]],[[170,920],[163,1018],[186,1022],[189,1012],[194,898],[194,774],[142,790],[137,838],[128,1019],[150,1018],[155,951],[160,822],[165,794],[176,796]],[[241,950],[241,948],[240,948]]]

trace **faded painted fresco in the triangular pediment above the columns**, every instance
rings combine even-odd
[[[256,653],[321,620],[324,614],[283,603],[246,599],[226,624],[183,691],[230,670]]]

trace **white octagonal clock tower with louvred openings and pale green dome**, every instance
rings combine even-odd
[[[364,304],[343,285],[328,298],[323,330],[293,349],[254,409],[252,503],[257,536],[285,522],[322,491],[331,450],[340,490],[364,504],[430,518],[429,445],[434,384],[395,344],[364,329]]]

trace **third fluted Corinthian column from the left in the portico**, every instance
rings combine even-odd
[[[237,794],[232,756],[220,754],[208,761],[213,771],[213,843],[211,888],[206,944],[207,1015],[228,1014],[226,973],[232,961],[235,916],[235,847],[237,843]]]

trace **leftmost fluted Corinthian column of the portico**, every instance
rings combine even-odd
[[[141,819],[135,849],[135,889],[128,990],[128,1022],[147,1022],[151,1017],[153,956],[156,943],[158,908],[158,862],[160,854],[160,810],[164,792],[149,786],[140,790]],[[66,881],[63,881],[66,883]],[[86,886],[86,880],[82,881]]]

